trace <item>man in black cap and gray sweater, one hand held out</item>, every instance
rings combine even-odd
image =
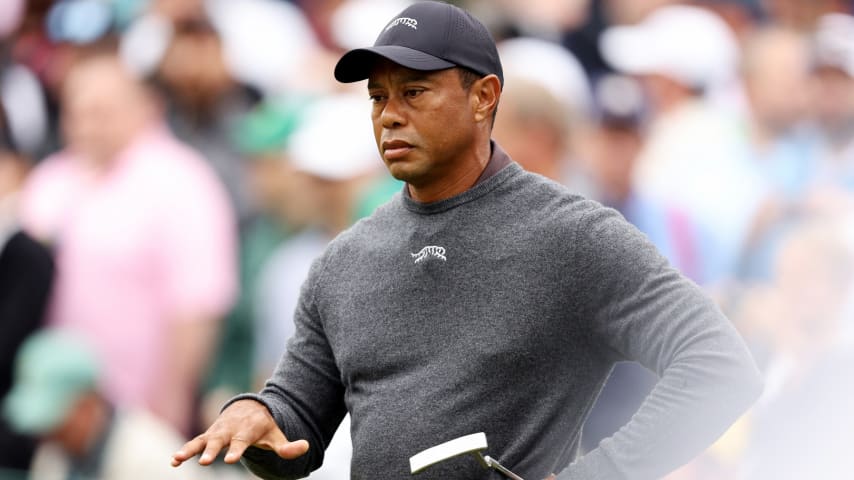
[[[227,447],[226,462],[243,456],[263,478],[299,478],[349,412],[351,478],[409,478],[411,455],[479,431],[524,478],[653,478],[754,400],[747,349],[694,284],[614,211],[490,141],[502,70],[470,14],[416,3],[335,75],[368,78],[377,145],[406,189],[330,244],[267,386],[235,398],[173,465]],[[620,359],[661,378],[632,421],[576,458]],[[419,478],[494,477],[458,457]]]

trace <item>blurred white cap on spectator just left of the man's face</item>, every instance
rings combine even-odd
[[[288,146],[299,171],[325,180],[347,180],[380,169],[371,103],[358,95],[330,95],[303,112]]]

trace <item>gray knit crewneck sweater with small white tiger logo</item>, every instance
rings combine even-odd
[[[412,478],[410,456],[480,431],[486,453],[527,480],[657,478],[760,390],[732,325],[643,234],[515,163],[448,200],[398,195],[341,234],[314,263],[295,323],[266,387],[237,397],[311,445],[295,461],[250,448],[243,461],[263,478],[318,468],[348,411],[353,479]],[[578,457],[584,418],[627,359],[660,381]],[[459,457],[416,478],[498,477]]]

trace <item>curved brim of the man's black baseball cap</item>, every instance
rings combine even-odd
[[[413,70],[444,70],[456,64],[439,57],[399,45],[381,45],[357,48],[345,53],[335,65],[335,79],[342,83],[358,82],[368,78],[377,57],[390,60]]]

